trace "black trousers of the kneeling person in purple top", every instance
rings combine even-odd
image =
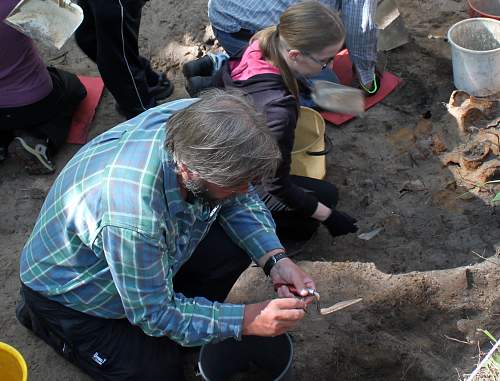
[[[66,141],[73,112],[87,91],[76,75],[47,69],[53,85],[49,95],[27,106],[0,108],[0,146],[6,148],[20,132],[47,139],[52,152]]]

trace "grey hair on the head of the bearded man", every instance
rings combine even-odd
[[[241,92],[211,89],[166,124],[165,148],[177,164],[222,187],[263,181],[276,172],[279,147]]]

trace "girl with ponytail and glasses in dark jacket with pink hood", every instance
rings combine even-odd
[[[278,235],[287,243],[308,240],[320,222],[332,236],[358,230],[355,218],[336,209],[338,192],[333,184],[290,174],[299,116],[297,80],[327,67],[344,36],[337,12],[318,2],[304,2],[288,8],[277,26],[257,33],[239,56],[228,61],[205,56],[183,67],[192,95],[204,87],[237,88],[266,115],[283,160],[272,181],[258,190],[273,214]],[[217,68],[220,62],[222,67]]]

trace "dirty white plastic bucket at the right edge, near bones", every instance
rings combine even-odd
[[[500,21],[462,20],[448,31],[448,41],[458,90],[477,97],[500,92]]]

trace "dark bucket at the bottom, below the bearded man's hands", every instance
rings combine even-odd
[[[201,348],[198,369],[206,381],[292,381],[293,344],[288,334],[243,336]]]

